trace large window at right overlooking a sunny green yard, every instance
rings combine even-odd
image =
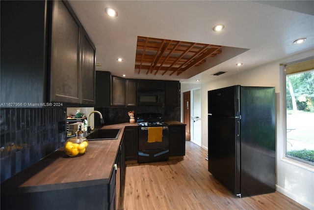
[[[286,156],[314,165],[314,59],[286,66]]]

